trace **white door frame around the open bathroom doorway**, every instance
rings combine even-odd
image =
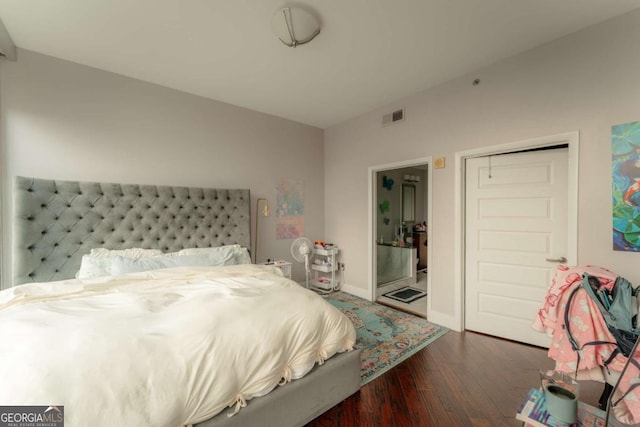
[[[371,301],[376,300],[376,271],[378,268],[378,263],[376,259],[376,212],[378,208],[378,198],[376,191],[376,178],[378,172],[394,170],[394,169],[402,169],[402,168],[410,168],[414,166],[428,165],[427,167],[427,232],[428,230],[433,230],[432,221],[433,221],[433,158],[431,156],[421,157],[418,159],[404,160],[400,162],[394,163],[386,163],[382,165],[375,165],[369,167],[369,232],[368,232],[368,254],[369,254],[369,298]],[[429,239],[429,251],[427,252],[427,265],[429,266],[429,270],[432,269],[431,262],[431,254],[433,253],[432,242],[433,239]],[[427,274],[427,316],[431,313],[431,276],[432,274]]]

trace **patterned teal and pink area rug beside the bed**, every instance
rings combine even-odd
[[[326,300],[347,315],[356,328],[362,385],[379,377],[449,330],[402,311],[336,292]]]

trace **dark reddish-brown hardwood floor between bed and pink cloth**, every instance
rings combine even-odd
[[[521,426],[516,411],[547,350],[473,332],[448,332],[307,424],[328,426]],[[580,399],[597,406],[603,385],[580,382]]]

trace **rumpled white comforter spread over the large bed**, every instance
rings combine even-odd
[[[27,284],[0,292],[0,405],[64,405],[68,426],[198,423],[354,343],[273,267]]]

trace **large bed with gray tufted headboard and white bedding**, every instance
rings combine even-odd
[[[139,376],[136,381],[131,381],[131,388],[113,394],[113,390],[109,388],[106,390],[100,390],[99,387],[92,388],[89,377],[77,375],[74,377],[73,373],[68,373],[69,378],[75,378],[76,382],[70,379],[66,381],[71,384],[88,384],[89,390],[85,391],[87,395],[96,393],[96,402],[107,405],[103,411],[99,411],[101,414],[121,414],[119,415],[121,421],[134,418],[155,420],[152,423],[143,423],[147,425],[296,426],[311,421],[359,390],[359,352],[348,351],[353,348],[355,341],[355,331],[348,319],[348,325],[343,323],[346,317],[341,314],[334,316],[335,313],[332,313],[334,309],[320,296],[284,278],[277,268],[238,262],[235,255],[230,257],[231,260],[226,255],[222,256],[225,262],[221,267],[210,267],[206,265],[206,261],[202,260],[198,261],[202,264],[196,264],[196,266],[183,266],[181,264],[183,261],[177,263],[175,261],[178,258],[206,258],[212,256],[211,253],[219,259],[218,248],[225,253],[230,250],[235,251],[236,255],[239,253],[240,257],[246,258],[248,255],[246,251],[243,253],[242,249],[249,247],[250,242],[249,206],[248,190],[17,178],[13,272],[14,284],[24,285],[0,293],[0,319],[6,312],[18,313],[17,318],[4,318],[4,323],[0,323],[0,334],[4,334],[4,338],[9,339],[19,338],[15,335],[18,331],[21,336],[29,336],[29,329],[20,328],[25,325],[27,327],[38,325],[38,317],[31,316],[35,316],[34,311],[41,310],[42,307],[49,310],[47,315],[50,317],[47,319],[52,325],[47,326],[53,327],[59,324],[65,325],[69,313],[83,310],[87,306],[94,308],[97,306],[108,322],[94,322],[97,328],[102,328],[99,332],[97,329],[92,329],[91,322],[87,322],[86,327],[76,329],[86,330],[85,332],[89,335],[76,337],[74,333],[68,341],[76,343],[75,347],[82,347],[80,344],[93,332],[100,339],[96,340],[93,337],[92,346],[100,348],[103,357],[98,362],[85,362],[84,356],[80,357],[74,362],[78,372],[86,371],[85,374],[90,374],[93,364],[102,363],[96,366],[114,367],[114,373],[110,374],[109,378],[117,377],[116,366],[118,363],[123,363],[128,365],[127,369],[133,372],[134,378],[136,375]],[[134,254],[138,253],[139,250],[135,248],[161,251],[163,255],[123,256],[126,255],[127,250]],[[121,275],[91,276],[93,270],[89,269],[81,278],[74,278],[85,267],[83,258],[90,257],[92,250],[116,254],[109,258],[109,271],[113,273],[115,265],[120,268],[117,273]],[[167,253],[172,256],[165,256],[164,254]],[[147,265],[143,265],[151,259],[156,262],[158,258],[168,259],[163,261],[168,264],[162,264],[162,267],[169,268],[148,269]],[[193,259],[187,264],[193,262]],[[102,262],[98,261],[98,264]],[[153,266],[153,262],[151,264]],[[104,267],[102,264],[98,267],[100,266]],[[159,295],[152,293],[155,289],[160,289],[161,293]],[[282,301],[283,295],[285,302]],[[262,300],[263,297],[266,299]],[[68,300],[71,300],[71,305],[63,305],[63,303],[68,304]],[[209,304],[217,300],[225,300],[223,304],[231,305],[203,305],[203,301]],[[248,300],[257,301],[257,305],[248,305],[245,303]],[[78,309],[74,304],[84,305],[82,309]],[[314,306],[318,306],[317,311],[312,309]],[[34,310],[34,307],[37,309]],[[325,324],[333,323],[336,328],[326,330],[318,328],[316,333],[304,339],[290,339],[287,341],[288,344],[278,344],[275,349],[262,350],[262,346],[272,340],[250,339],[252,334],[267,336],[278,335],[287,329],[297,330],[298,323],[287,323],[291,322],[291,319],[276,318],[278,312],[288,313],[290,317],[301,315],[294,310],[294,307],[297,307],[296,310],[300,307],[304,308],[298,311],[316,313],[315,317],[324,319]],[[229,322],[227,320],[229,317],[225,317],[230,316],[231,312],[242,312],[242,315],[238,316],[239,319],[233,320],[237,323]],[[51,313],[55,314],[51,315]],[[174,317],[169,316],[169,320],[164,318],[154,323],[150,319],[155,319],[153,316],[158,313],[169,313]],[[149,318],[148,315],[152,317]],[[254,315],[256,317],[253,317]],[[56,323],[58,321],[61,323]],[[216,329],[215,334],[209,333],[210,325],[221,323],[234,325],[222,328],[230,329],[231,335],[224,335],[219,329]],[[105,324],[109,327],[105,328]],[[249,332],[240,332],[240,329],[236,329],[236,325],[240,324],[248,324]],[[280,326],[274,328],[274,325]],[[124,355],[121,355],[119,350],[114,351],[117,349],[109,343],[120,339],[125,333],[133,334],[135,339],[119,342],[119,347],[121,344],[123,347]],[[112,340],[110,341],[109,338]],[[320,341],[317,341],[318,339]],[[138,344],[144,340],[151,340],[153,345],[140,347]],[[302,345],[305,342],[309,343],[309,340],[314,342],[313,352],[308,350],[309,347]],[[170,349],[204,346],[206,351],[196,356],[189,356],[195,357],[197,360],[195,365],[192,362],[185,362],[182,366],[181,361],[187,360],[182,353],[158,350],[166,348],[162,346],[155,347],[163,341],[170,341]],[[247,380],[243,372],[235,372],[229,380],[225,381],[232,384],[236,384],[234,381],[237,382],[236,388],[239,391],[219,391],[216,388],[220,383],[220,377],[216,376],[217,372],[230,371],[230,368],[222,364],[224,357],[218,357],[223,351],[218,347],[212,351],[209,347],[217,341],[224,344],[223,349],[230,348],[229,343],[235,341],[258,344],[259,346],[253,347],[253,350],[255,348],[261,350],[254,354],[266,353],[271,360],[284,358],[286,363],[271,363],[269,358],[266,362],[254,362],[253,357],[240,359],[243,351],[228,350],[229,354],[226,358],[231,360],[231,365],[242,365],[245,371],[262,372],[265,365],[271,364],[277,368],[277,372],[260,376],[260,380],[256,380],[260,383],[259,386],[256,386],[256,381],[251,383]],[[45,342],[46,340],[39,344],[37,342],[31,344],[35,346],[34,348],[38,348],[37,345],[45,345]],[[274,342],[280,341],[274,340]],[[306,349],[303,350],[302,355],[282,354],[283,348],[297,346]],[[42,349],[44,350],[44,347]],[[131,352],[140,351],[140,354],[136,357],[132,353],[125,353],[127,349]],[[245,352],[251,354],[253,350]],[[163,351],[166,351],[166,354]],[[13,364],[23,363],[25,366],[29,366],[24,362],[25,360],[32,364],[38,360],[32,359],[35,357],[30,355],[33,352],[23,353],[19,357],[19,352],[11,354],[5,352],[3,359],[10,360]],[[210,356],[214,353],[216,363],[210,360],[212,359]],[[58,356],[59,354],[64,353],[53,351],[42,359],[46,363],[41,368],[41,374],[46,376],[51,373],[51,367],[57,366],[57,362],[51,362],[55,357],[69,359],[75,353],[72,352],[66,356]],[[111,354],[113,360],[111,357],[105,358],[104,354]],[[150,373],[138,371],[138,369],[144,369],[144,365],[153,365],[151,361],[156,358],[160,359],[160,364],[152,367]],[[5,362],[6,360],[2,361],[0,370],[4,367],[4,374],[10,375],[10,371],[14,368],[9,369],[9,365]],[[176,368],[177,365],[180,365],[180,369]],[[169,371],[173,376],[156,377],[155,373],[163,371],[163,366],[164,370]],[[16,372],[18,371],[16,369]],[[60,376],[62,373],[55,372],[55,375]],[[186,385],[176,381],[180,377],[187,377]],[[61,378],[58,380],[65,381]],[[5,400],[14,400],[1,403],[20,404],[19,399],[15,397],[17,393],[14,394],[13,390],[9,393],[8,388],[5,388],[5,393],[2,393],[2,387],[8,387],[6,384],[3,381],[3,385],[0,385],[0,396]],[[133,384],[142,386],[133,386]],[[194,384],[198,389],[196,391],[191,387]],[[242,387],[247,384],[248,389],[243,389]],[[125,387],[127,387],[126,384]],[[272,391],[268,392],[269,390]],[[263,395],[267,392],[268,394]],[[144,406],[145,400],[153,400],[150,394],[159,396],[159,400],[150,403],[148,407],[138,407],[135,411],[129,408],[133,412],[127,415],[125,412],[127,407],[132,406],[130,402],[143,402]],[[46,394],[40,394],[40,399],[44,399],[45,396]],[[54,393],[52,396],[61,395]],[[105,396],[111,396],[111,399]],[[215,396],[218,400],[218,396],[224,396],[224,398],[211,403],[209,401],[211,396]],[[22,404],[33,403],[22,402]],[[57,404],[63,403],[57,402]],[[167,410],[167,406],[175,406],[177,409],[170,411]],[[73,411],[73,405],[66,403],[65,413],[72,414]],[[78,409],[78,412],[82,411]],[[90,410],[89,413],[91,413]],[[175,415],[176,413],[179,415]],[[73,416],[70,416],[73,419]],[[157,418],[152,418],[157,416],[164,421],[158,423]],[[129,425],[138,424],[129,423]],[[69,425],[74,424],[70,422]]]

